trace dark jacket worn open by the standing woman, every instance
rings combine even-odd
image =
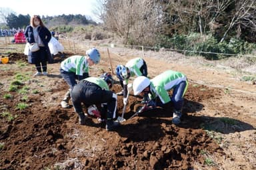
[[[38,34],[40,39],[43,41],[45,46],[48,46],[48,42],[51,40],[51,32],[46,27],[39,26],[37,28]],[[25,29],[25,37],[27,42],[33,43],[35,42],[34,35],[33,35],[33,27],[31,25],[27,26]]]

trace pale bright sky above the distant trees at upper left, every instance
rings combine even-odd
[[[95,11],[99,0],[4,0],[0,7],[11,9],[17,15],[86,15],[97,20]]]

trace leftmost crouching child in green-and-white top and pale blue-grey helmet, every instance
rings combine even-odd
[[[69,90],[61,101],[62,108],[70,108],[70,91],[77,84],[76,79],[83,80],[89,77],[89,66],[98,64],[100,59],[99,51],[96,48],[91,48],[86,51],[86,56],[70,56],[61,62],[61,76],[69,84]]]

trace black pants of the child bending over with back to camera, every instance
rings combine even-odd
[[[103,90],[97,84],[82,80],[71,90],[71,100],[75,112],[83,112],[81,104],[91,106],[107,103],[107,119],[116,117],[117,95],[110,90]]]

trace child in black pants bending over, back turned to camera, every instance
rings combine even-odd
[[[81,103],[87,108],[95,105],[99,110],[98,116],[107,117],[106,130],[111,131],[119,126],[119,122],[114,121],[117,111],[117,95],[109,90],[113,86],[113,78],[111,74],[104,73],[100,78],[89,77],[81,80],[71,90],[71,100],[75,112],[79,116],[79,124],[85,125],[87,114],[84,114]],[[101,107],[106,104],[106,110]]]

